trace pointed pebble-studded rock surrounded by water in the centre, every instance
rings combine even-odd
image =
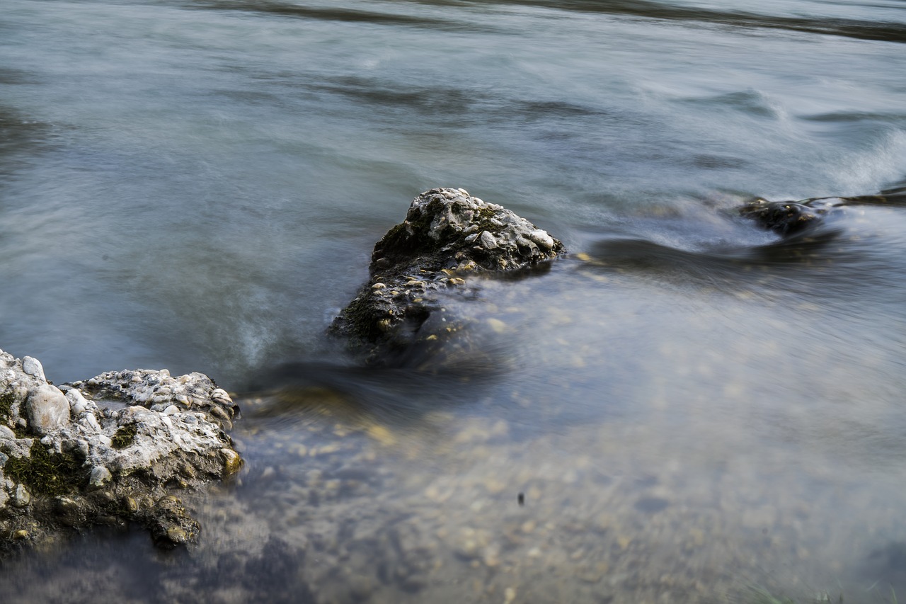
[[[477,273],[525,269],[556,258],[563,244],[543,229],[463,189],[432,189],[374,246],[369,283],[333,331],[369,349],[369,361],[436,333],[422,329],[441,292],[466,288]],[[449,332],[454,329],[446,326]]]

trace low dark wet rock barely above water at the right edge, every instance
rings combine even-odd
[[[779,235],[793,235],[812,227],[834,211],[853,206],[906,206],[906,188],[859,197],[819,197],[798,201],[749,201],[738,209],[743,218],[755,220]]]

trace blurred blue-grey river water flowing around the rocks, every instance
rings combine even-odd
[[[0,346],[249,393],[198,547],[91,533],[10,601],[906,593],[906,210],[730,212],[901,187],[904,42],[899,0],[5,0]],[[482,371],[361,369],[324,328],[439,185],[582,255],[449,301]]]

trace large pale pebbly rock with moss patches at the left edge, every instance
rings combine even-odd
[[[161,547],[198,537],[178,489],[236,472],[235,405],[206,375],[108,372],[59,388],[0,350],[0,550],[138,521]]]

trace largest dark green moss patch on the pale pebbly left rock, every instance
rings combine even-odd
[[[86,478],[82,463],[71,456],[50,453],[35,440],[31,457],[10,457],[4,466],[7,478],[21,482],[30,492],[63,495],[79,488]]]

